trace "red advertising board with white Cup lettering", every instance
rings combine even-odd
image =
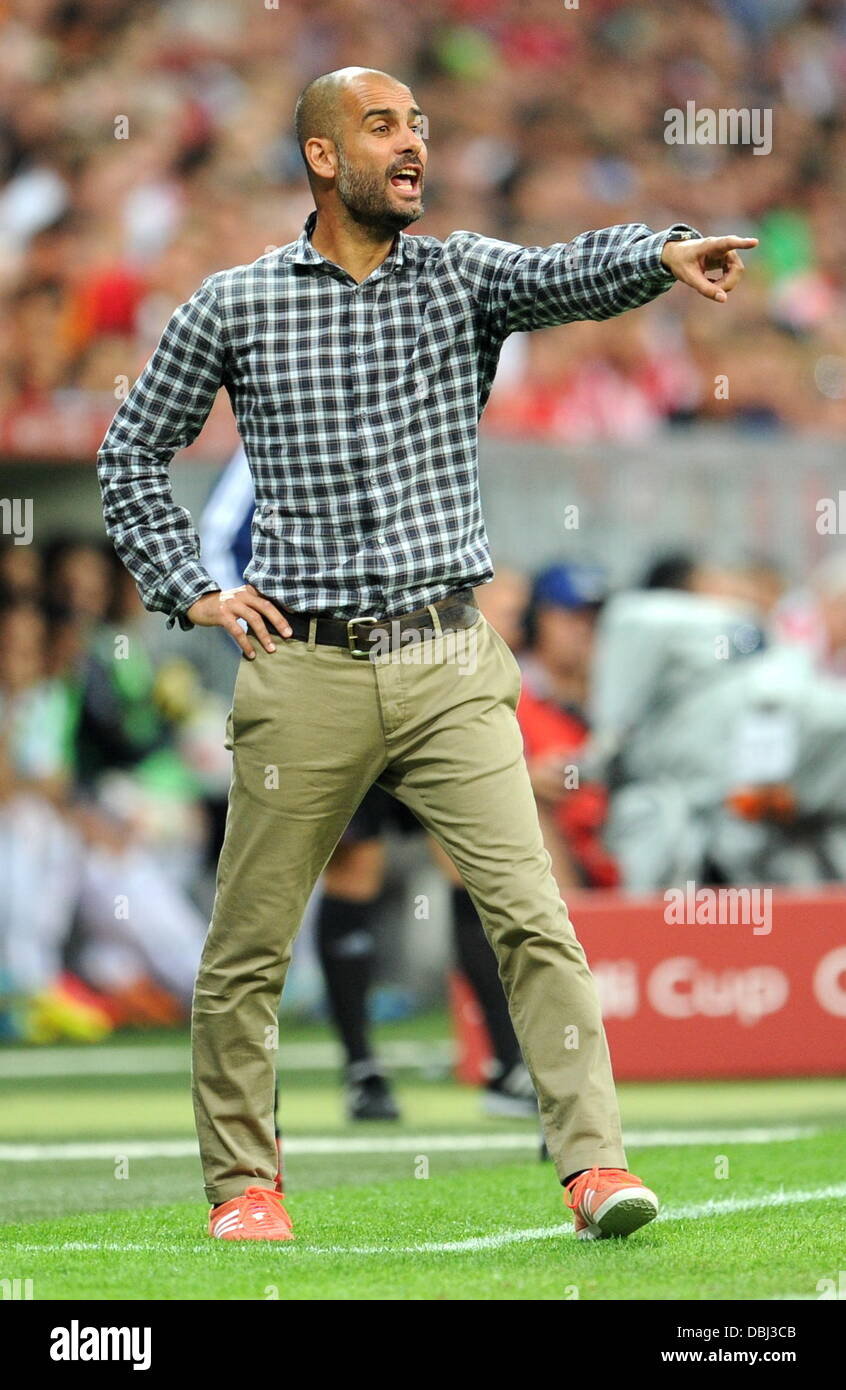
[[[846,1074],[846,891],[745,892],[568,895],[618,1080]],[[453,1001],[476,1080],[486,1040],[463,981]]]

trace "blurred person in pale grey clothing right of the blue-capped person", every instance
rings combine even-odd
[[[590,682],[586,763],[610,785],[604,838],[632,892],[708,881],[731,731],[764,645],[760,614],[728,592],[729,571],[693,563],[657,577],[604,606]]]

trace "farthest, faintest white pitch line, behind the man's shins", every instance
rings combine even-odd
[[[379,1058],[386,1066],[426,1068],[451,1066],[454,1044],[449,1038],[431,1042],[399,1040],[385,1042]],[[328,1072],[339,1068],[342,1055],[335,1042],[279,1044],[279,1068],[297,1072]],[[169,1076],[190,1072],[188,1044],[164,1047],[46,1047],[38,1049],[13,1048],[0,1051],[0,1080],[31,1077],[75,1076]]]

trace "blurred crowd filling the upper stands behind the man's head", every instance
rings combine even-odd
[[[3,0],[0,19],[7,450],[54,410],[53,448],[85,453],[78,421],[94,411],[100,438],[174,306],[299,235],[295,100],[345,64],[408,81],[426,113],[413,234],[549,245],[682,220],[760,236],[720,311],[674,293],[513,339],[483,428],[846,424],[840,0]],[[771,111],[771,152],[668,143],[665,113],[689,101]]]

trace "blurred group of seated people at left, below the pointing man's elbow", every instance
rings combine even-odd
[[[0,1034],[97,1040],[190,1002],[225,705],[146,628],[106,545],[0,552]]]

